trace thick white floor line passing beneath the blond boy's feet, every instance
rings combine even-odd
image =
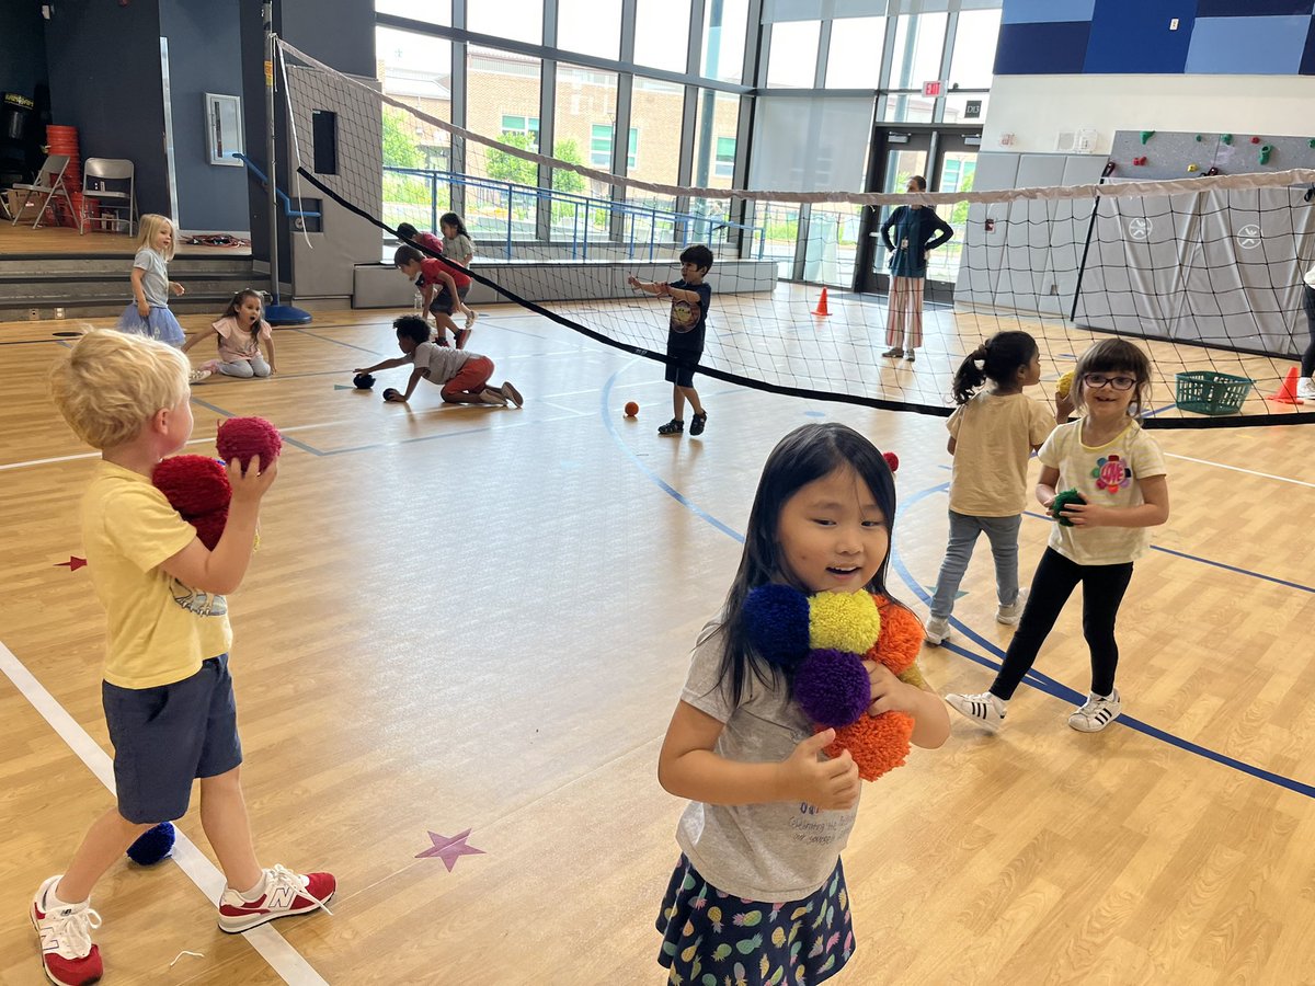
[[[78,759],[87,765],[96,780],[113,794],[114,765],[109,755],[96,745],[96,740],[87,735],[87,731],[3,643],[0,643],[0,672],[4,672],[18,694],[32,703],[32,707],[68,744],[68,748],[78,755]],[[178,841],[174,843],[174,862],[209,901],[220,899],[224,890],[224,874],[196,848],[195,843],[183,835],[181,830],[178,831]],[[292,983],[292,986],[327,986],[320,973],[312,969],[301,953],[292,948],[272,926],[262,924],[259,928],[243,932],[242,937],[260,953],[260,957],[270,964],[274,972],[283,977],[284,982]]]

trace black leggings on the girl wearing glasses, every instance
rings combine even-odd
[[[1114,692],[1114,672],[1119,667],[1119,644],[1114,639],[1114,619],[1132,580],[1132,563],[1122,565],[1080,565],[1047,548],[1032,576],[1032,589],[1018,622],[1005,664],[990,692],[1006,702],[1036,661],[1036,655],[1055,627],[1060,610],[1082,584],[1082,636],[1091,649],[1091,690],[1098,695]]]

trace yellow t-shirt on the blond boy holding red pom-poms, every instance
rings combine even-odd
[[[196,536],[150,480],[101,461],[83,497],[83,550],[109,640],[105,681],[155,688],[191,677],[233,644],[222,596],[196,592],[159,565]]]

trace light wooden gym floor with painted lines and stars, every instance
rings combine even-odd
[[[112,805],[93,773],[104,619],[87,572],[59,567],[93,465],[45,396],[68,327],[0,326],[0,982],[16,986],[43,982],[33,890]],[[427,384],[384,405],[400,371],[375,394],[335,389],[394,352],[387,313],[276,338],[280,376],[195,389],[192,450],[231,414],[287,431],[231,601],[243,777],[266,865],[331,869],[338,898],[226,936],[179,865],[116,865],[93,899],[107,982],[661,982],[682,803],[656,756],[764,458],[817,419],[898,452],[892,588],[924,614],[944,422],[704,380],[705,436],[659,438],[659,365],[510,308],[485,310],[472,348],[523,410],[444,408]],[[867,786],[844,853],[859,948],[836,982],[1315,982],[1315,429],[1157,439],[1173,518],[1122,613],[1126,719],[1077,734],[1068,701],[1024,688],[999,736],[956,720],[943,749]],[[1026,519],[1024,573],[1045,535]],[[952,646],[922,655],[938,690],[989,682],[1009,639],[992,586],[981,547]],[[1077,607],[1038,670],[1085,692]],[[213,895],[195,801],[179,827]],[[484,855],[417,858],[429,832],[466,830]]]

